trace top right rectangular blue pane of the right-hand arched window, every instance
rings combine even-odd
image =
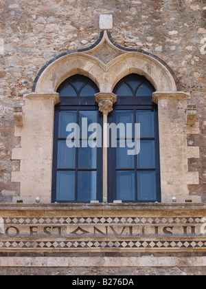
[[[137,123],[140,123],[141,138],[155,136],[154,111],[138,110]]]

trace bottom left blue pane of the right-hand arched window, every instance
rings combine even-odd
[[[135,172],[117,171],[117,200],[135,200]]]

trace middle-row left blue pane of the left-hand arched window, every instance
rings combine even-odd
[[[58,140],[58,169],[75,169],[76,167],[76,148],[67,147],[66,140]]]

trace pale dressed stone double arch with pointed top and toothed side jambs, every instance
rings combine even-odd
[[[13,202],[20,199],[34,203],[37,196],[43,203],[52,200],[58,86],[75,74],[88,76],[100,90],[96,100],[102,104],[104,98],[110,98],[112,106],[115,85],[134,73],[145,76],[156,89],[153,101],[159,111],[162,202],[170,203],[172,197],[177,202],[201,202],[201,197],[190,195],[188,189],[189,184],[199,182],[198,172],[188,169],[188,158],[199,158],[198,147],[187,147],[187,134],[199,133],[194,106],[187,109],[190,94],[181,92],[178,79],[163,60],[143,50],[119,46],[108,31],[102,31],[91,47],[65,52],[49,61],[38,72],[32,92],[24,96],[25,105],[15,108],[15,135],[21,137],[21,148],[12,150],[12,160],[21,160],[21,169],[12,173],[12,182],[21,183],[21,195],[14,197]]]

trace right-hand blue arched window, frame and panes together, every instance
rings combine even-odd
[[[108,200],[123,202],[160,202],[159,129],[157,105],[152,103],[155,88],[144,77],[130,74],[113,90],[117,103],[108,122],[133,124],[131,141],[135,141],[135,123],[140,124],[140,152],[128,155],[121,147],[117,133],[117,148],[110,145],[108,153]],[[124,142],[124,141],[123,141]]]

